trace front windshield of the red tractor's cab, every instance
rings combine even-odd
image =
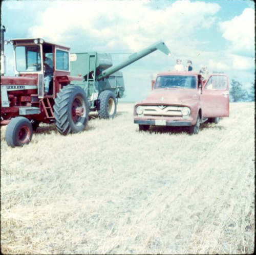
[[[16,69],[18,72],[41,71],[39,45],[17,46],[15,48]]]

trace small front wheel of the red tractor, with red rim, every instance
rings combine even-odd
[[[25,117],[16,117],[6,128],[5,140],[11,147],[29,144],[32,139],[32,124]]]

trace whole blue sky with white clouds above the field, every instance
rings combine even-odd
[[[162,40],[171,52],[156,51],[124,67],[126,97],[143,99],[151,77],[173,69],[176,58],[225,72],[245,88],[254,82],[254,2],[250,0],[12,1],[1,6],[5,39],[42,37],[70,45],[71,52],[111,53],[114,64]],[[5,47],[6,75],[13,53]]]

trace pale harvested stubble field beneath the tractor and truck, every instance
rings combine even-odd
[[[133,104],[60,135],[40,125],[10,148],[1,127],[6,254],[245,254],[254,251],[254,104],[230,117],[139,132]]]

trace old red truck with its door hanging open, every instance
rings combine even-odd
[[[219,122],[229,116],[228,77],[210,74],[206,80],[197,72],[165,72],[152,81],[152,91],[134,106],[139,130],[150,126],[187,126],[197,134],[205,121]]]

